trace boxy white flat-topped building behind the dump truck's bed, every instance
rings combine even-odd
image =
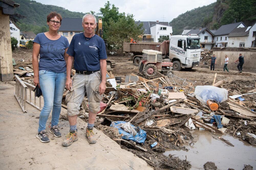
[[[167,37],[173,33],[172,26],[166,26],[161,24],[155,24],[150,27],[150,32],[154,42],[158,42],[158,38]]]

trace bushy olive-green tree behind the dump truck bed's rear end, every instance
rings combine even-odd
[[[143,25],[136,25],[132,14],[120,17],[117,21],[110,18],[105,31],[108,47],[122,48],[124,42],[130,42],[131,38],[135,41],[140,40],[139,35],[143,33]]]

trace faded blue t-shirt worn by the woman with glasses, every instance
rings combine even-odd
[[[39,70],[52,72],[65,72],[66,62],[64,59],[65,49],[69,47],[69,42],[62,35],[58,40],[50,40],[44,33],[39,33],[33,43],[40,44]]]

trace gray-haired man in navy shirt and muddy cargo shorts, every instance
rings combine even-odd
[[[84,32],[73,36],[67,51],[67,81],[66,87],[69,93],[66,96],[67,115],[70,125],[70,133],[62,142],[62,146],[70,146],[78,140],[77,114],[84,99],[85,93],[89,102],[89,120],[86,128],[86,137],[90,144],[96,143],[93,133],[94,121],[100,111],[100,101],[106,88],[106,49],[102,38],[94,34],[96,28],[94,15],[86,14],[82,19]],[[70,78],[71,68],[74,62],[76,74],[73,82]]]

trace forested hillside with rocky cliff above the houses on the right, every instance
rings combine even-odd
[[[218,29],[221,25],[240,21],[246,26],[251,26],[256,21],[255,0],[217,0],[210,5],[187,11],[169,24],[173,27],[173,34],[177,35],[183,29]]]

